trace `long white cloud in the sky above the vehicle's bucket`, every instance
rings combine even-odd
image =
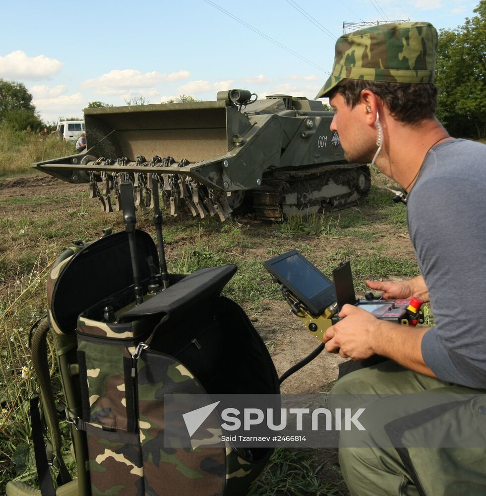
[[[186,79],[189,75],[188,70],[179,70],[170,74],[156,71],[142,74],[135,69],[115,69],[94,79],[87,79],[81,83],[81,87],[94,89],[103,95],[122,95],[128,89],[133,91],[135,88],[151,88],[160,83]]]

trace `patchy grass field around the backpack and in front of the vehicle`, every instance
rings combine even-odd
[[[36,381],[28,336],[32,324],[46,312],[49,267],[71,240],[94,240],[105,227],[122,230],[123,222],[121,213],[101,212],[86,192],[72,191],[69,185],[61,193],[46,194],[39,188],[23,196],[4,194],[0,211],[1,494],[12,478],[29,483],[35,479],[27,400],[34,394]],[[154,236],[150,215],[140,217],[137,227]],[[258,330],[267,324],[269,308],[282,301],[262,262],[288,249],[301,250],[327,274],[350,259],[360,291],[365,278],[399,279],[418,273],[407,235],[406,208],[392,203],[388,193],[374,186],[360,206],[283,224],[260,222],[251,215],[233,217],[224,224],[214,218],[167,218],[164,238],[171,272],[236,263],[239,270],[224,291],[257,319]],[[295,331],[275,329],[274,344],[267,344],[271,353],[283,332]],[[54,351],[49,353],[52,358]],[[51,375],[58,384],[54,364]],[[67,431],[65,422],[61,427]],[[339,469],[329,460],[326,450],[279,448],[252,494],[346,495]]]

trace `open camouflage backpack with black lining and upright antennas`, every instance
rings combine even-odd
[[[146,293],[153,266],[159,268],[157,249],[147,233],[134,234]],[[165,291],[134,306],[126,232],[78,243],[61,255],[48,280],[49,320],[35,326],[32,338],[59,487],[54,490],[41,435],[34,442],[41,491],[9,482],[7,496],[246,495],[272,449],[163,444],[164,394],[279,392],[263,341],[244,311],[220,296],[236,270],[226,265],[170,275]],[[107,315],[112,311],[116,318]],[[72,481],[49,379],[49,330],[71,424]]]

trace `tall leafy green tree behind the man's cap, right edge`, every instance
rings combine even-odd
[[[440,30],[437,118],[456,136],[486,137],[486,0],[463,26]]]

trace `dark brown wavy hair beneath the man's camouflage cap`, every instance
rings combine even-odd
[[[343,79],[329,95],[340,93],[353,108],[360,101],[363,90],[372,91],[390,109],[391,115],[405,124],[417,124],[434,117],[437,106],[437,87],[433,83],[392,83]]]

